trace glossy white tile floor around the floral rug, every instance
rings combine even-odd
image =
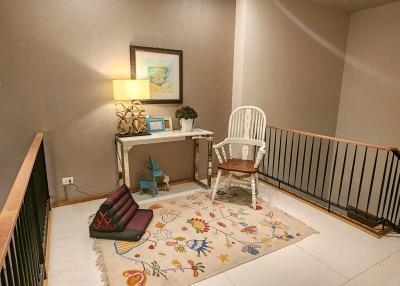
[[[188,183],[161,192],[156,198],[134,197],[143,203],[196,191],[198,185]],[[196,285],[400,285],[400,236],[376,239],[266,185],[262,185],[260,197],[314,227],[319,234]],[[50,286],[101,285],[87,224],[101,202],[52,210]]]

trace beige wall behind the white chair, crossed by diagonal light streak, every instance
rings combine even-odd
[[[234,104],[261,107],[268,124],[334,135],[348,14],[303,0],[245,2],[245,35],[236,36],[244,40],[243,82]]]

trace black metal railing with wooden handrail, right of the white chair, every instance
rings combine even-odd
[[[400,232],[400,152],[298,130],[267,127],[260,174],[279,188],[370,227]]]

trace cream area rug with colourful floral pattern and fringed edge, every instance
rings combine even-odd
[[[142,205],[154,217],[140,241],[97,239],[106,285],[191,285],[288,246],[315,232],[264,201],[231,188]]]

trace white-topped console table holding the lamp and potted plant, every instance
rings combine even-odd
[[[190,132],[174,130],[157,132],[145,136],[115,137],[115,142],[117,145],[118,172],[122,172],[122,180],[124,184],[126,184],[128,188],[131,188],[128,153],[133,146],[182,140],[194,140],[194,181],[206,189],[211,188],[213,134],[214,133],[211,131],[195,128]],[[208,141],[207,184],[201,182],[199,178],[198,165],[200,139],[205,139]]]

